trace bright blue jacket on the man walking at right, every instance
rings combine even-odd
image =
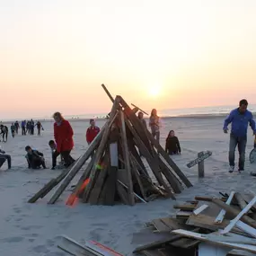
[[[225,119],[224,129],[227,129],[230,123],[232,123],[231,134],[235,137],[247,136],[248,123],[250,123],[253,132],[256,132],[255,121],[252,112],[249,110],[246,110],[243,114],[241,114],[238,109],[232,110]]]

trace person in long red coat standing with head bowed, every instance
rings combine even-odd
[[[75,162],[70,156],[70,152],[74,147],[73,129],[70,123],[62,117],[61,113],[54,113],[53,118],[55,120],[54,138],[57,144],[57,152],[62,155],[65,166],[68,167]]]

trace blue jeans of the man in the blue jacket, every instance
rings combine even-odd
[[[245,161],[245,148],[247,143],[247,137],[235,137],[234,135],[230,135],[229,142],[229,165],[234,166],[234,152],[236,146],[238,146],[239,152],[239,170],[244,169],[244,161]]]

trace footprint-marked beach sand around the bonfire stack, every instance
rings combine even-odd
[[[68,255],[57,249],[59,235],[66,234],[80,243],[93,239],[111,247],[124,255],[131,255],[137,245],[146,243],[147,238],[140,231],[147,221],[154,218],[170,216],[174,213],[172,205],[192,199],[196,195],[217,195],[219,191],[254,190],[255,178],[250,176],[255,165],[249,163],[248,155],[252,150],[252,131],[248,133],[245,172],[232,174],[227,172],[227,150],[229,136],[223,134],[223,118],[175,118],[163,119],[161,144],[170,129],[176,131],[181,141],[182,154],[175,155],[173,160],[189,177],[194,187],[185,189],[177,195],[177,201],[158,199],[148,204],[128,206],[89,206],[82,203],[75,207],[66,207],[65,200],[70,186],[56,205],[49,206],[49,195],[36,204],[28,204],[27,200],[51,178],[56,177],[59,170],[27,169],[24,158],[24,147],[32,146],[43,152],[50,167],[51,158],[48,147],[52,139],[52,122],[43,123],[45,131],[42,136],[9,137],[6,144],[0,143],[6,153],[13,157],[12,170],[6,165],[0,171],[0,255],[14,256],[61,256]],[[103,121],[98,125],[102,127]],[[74,121],[75,131],[74,157],[82,154],[86,148],[85,129],[87,121]],[[199,180],[197,167],[188,169],[186,164],[197,157],[199,151],[210,150],[212,156],[205,161],[206,177]],[[75,184],[77,178],[71,183]]]

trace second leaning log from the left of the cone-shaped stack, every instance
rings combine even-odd
[[[76,175],[77,172],[82,168],[86,160],[93,154],[93,151],[97,148],[97,146],[100,144],[102,140],[102,136],[105,132],[105,126],[102,128],[102,130],[99,132],[97,137],[93,139],[93,142],[88,146],[86,152],[75,162],[73,167],[71,168],[70,172],[66,175],[65,180],[60,184],[57,191],[54,193],[54,195],[49,199],[48,204],[54,204],[57,199],[60,197],[62,192],[66,189],[70,181],[72,181]]]

